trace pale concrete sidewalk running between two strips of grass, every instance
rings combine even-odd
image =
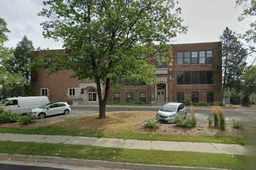
[[[188,143],[173,141],[138,141],[132,139],[124,140],[113,138],[78,137],[68,135],[25,134],[0,134],[0,141],[65,143],[138,150],[194,151],[201,153],[225,153],[228,155],[246,155],[246,148],[239,144]]]

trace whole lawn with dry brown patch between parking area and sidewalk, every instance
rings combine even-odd
[[[35,124],[26,126],[20,125],[19,123],[7,124],[6,126],[2,125],[2,127],[0,127],[0,133],[73,135],[111,137],[118,139],[228,143],[242,145],[246,143],[246,137],[243,135],[189,135],[193,130],[198,131],[197,128],[185,129],[185,134],[179,134],[179,132],[175,134],[175,126],[169,127],[170,125],[161,125],[157,131],[153,130],[152,132],[144,132],[143,130],[145,130],[145,128],[143,128],[143,121],[146,118],[154,117],[154,115],[155,112],[149,111],[122,111],[108,112],[108,117],[102,120],[98,119],[97,116],[84,116],[66,119],[56,117],[56,120],[39,120]],[[164,132],[165,129],[171,129],[173,133],[169,131]],[[183,130],[183,128],[177,129]],[[216,131],[216,133],[219,134],[220,132]]]

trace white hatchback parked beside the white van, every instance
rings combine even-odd
[[[68,114],[70,111],[70,106],[66,102],[48,103],[31,110],[32,115],[40,119],[54,114]]]

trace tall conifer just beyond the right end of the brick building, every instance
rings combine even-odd
[[[241,90],[242,75],[246,66],[247,50],[236,33],[228,27],[220,36],[222,42],[223,91],[227,88]]]

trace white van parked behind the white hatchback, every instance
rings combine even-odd
[[[28,113],[31,109],[49,103],[48,97],[15,97],[4,100],[4,111]]]

